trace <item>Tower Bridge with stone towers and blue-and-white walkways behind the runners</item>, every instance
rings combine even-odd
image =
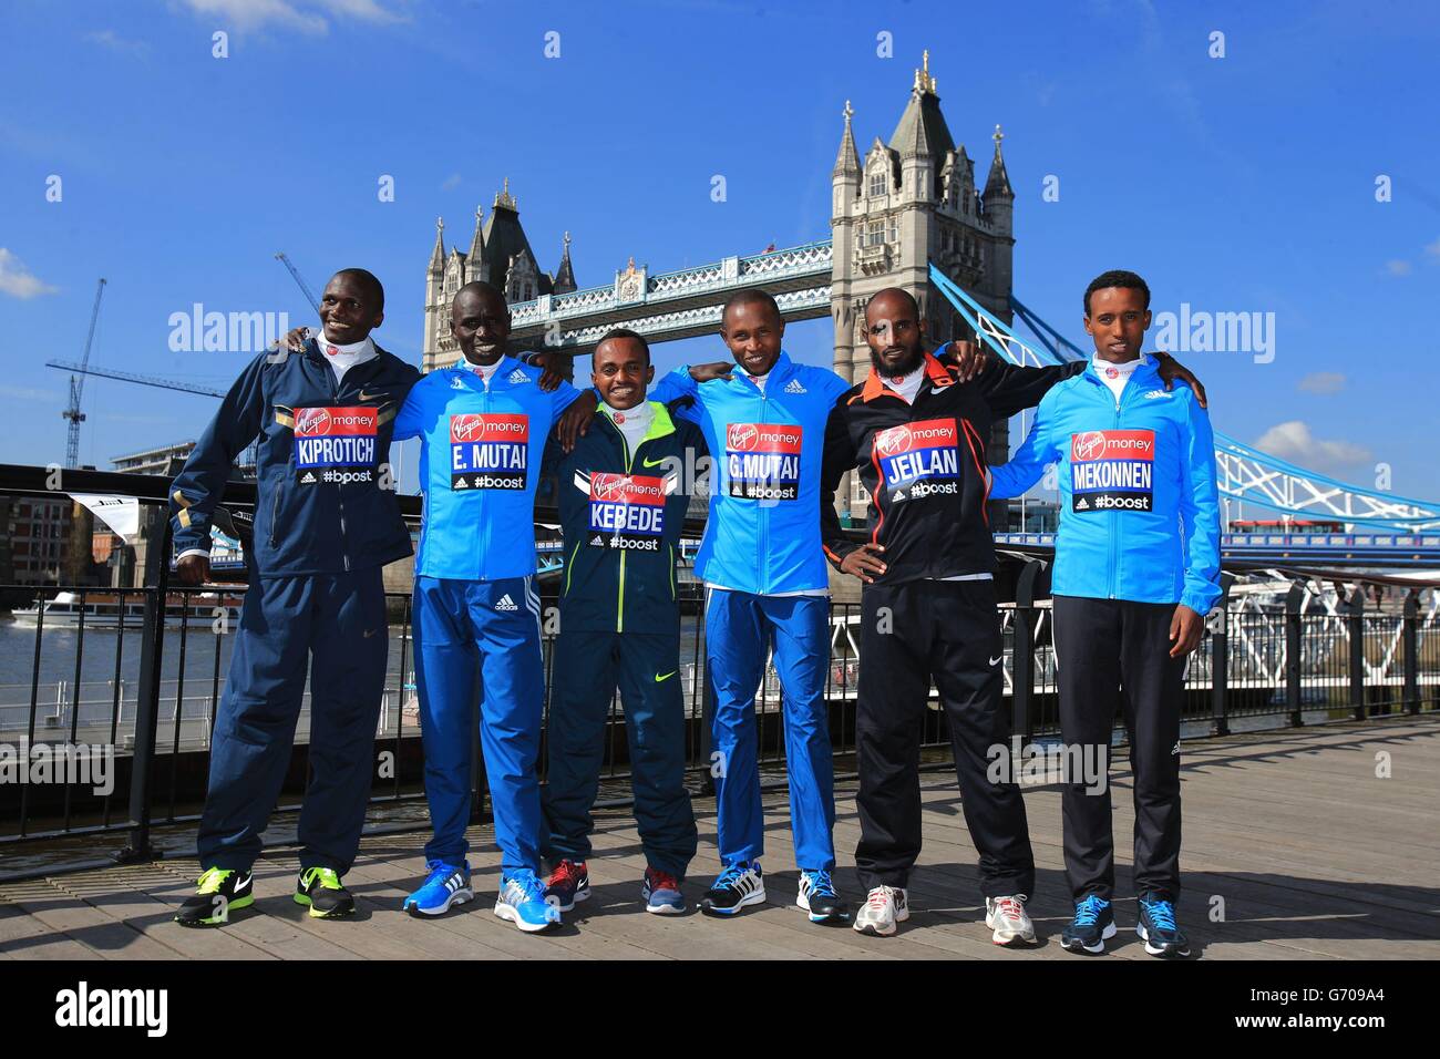
[[[832,365],[838,375],[861,382],[870,372],[864,341],[868,300],[886,287],[910,291],[920,305],[929,337],[936,341],[979,337],[1022,365],[1086,357],[1056,329],[1028,310],[1012,291],[1015,193],[1002,153],[1004,133],[994,127],[985,183],[956,143],[940,110],[929,53],[914,71],[910,95],[888,140],[874,135],[864,150],[855,137],[855,111],[841,111],[840,148],[831,170],[831,238],[798,246],[732,255],[693,268],[652,272],[634,258],[593,287],[579,287],[566,232],[559,268],[540,271],[520,225],[508,180],[495,196],[488,219],[475,212],[469,251],[445,249],[438,222],[426,269],[423,366],[449,365],[459,354],[449,336],[449,304],[471,280],[485,280],[505,292],[511,336],[523,346],[589,353],[612,327],[629,327],[652,343],[711,334],[720,310],[737,290],[762,287],[775,295],[785,320],[828,314],[834,327]],[[1015,330],[1022,321],[1034,339]],[[1021,424],[1024,429],[1024,419]],[[1009,424],[995,425],[989,450],[1009,451]],[[1404,552],[1404,563],[1440,566],[1440,504],[1356,487],[1308,471],[1261,452],[1220,431],[1215,458],[1223,497],[1274,511],[1282,522],[1323,519],[1344,523],[1346,533],[1326,543],[1297,535],[1248,535],[1227,540],[1246,558],[1329,558],[1349,562],[1387,549]],[[841,510],[858,517],[867,497],[858,481],[842,491]],[[1035,535],[1022,535],[1030,543]],[[1282,539],[1283,537],[1283,539]],[[1009,543],[1018,543],[1009,542]],[[1398,560],[1397,560],[1398,562]]]

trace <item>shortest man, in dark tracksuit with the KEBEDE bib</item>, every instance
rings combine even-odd
[[[645,399],[654,376],[644,337],[625,329],[606,334],[593,354],[600,405],[590,429],[569,454],[556,441],[546,450],[544,474],[557,477],[564,532],[543,794],[544,854],[556,862],[547,896],[562,912],[589,896],[590,807],[616,683],[647,860],[647,912],[684,911],[680,883],[696,854],[675,559],[704,438]]]

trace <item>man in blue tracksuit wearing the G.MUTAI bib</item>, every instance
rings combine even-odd
[[[831,879],[829,578],[819,540],[819,473],[825,422],[850,383],[829,369],[792,362],[780,349],[783,334],[775,298],[740,291],[726,303],[720,326],[739,370],[681,367],[652,398],[694,398],[714,461],[696,573],[707,588],[706,664],[717,755],[711,771],[724,869],[701,911],[733,915],[765,901],[755,696],[773,643],[801,869],[796,903],[815,922],[835,922],[848,912]]]

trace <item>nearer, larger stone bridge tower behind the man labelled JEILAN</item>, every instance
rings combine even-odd
[[[1015,193],[1001,156],[999,125],[985,190],[976,190],[975,163],[963,144],[955,143],[940,112],[929,52],[914,72],[910,99],[890,141],[877,135],[864,158],[855,146],[852,117],[847,101],[831,176],[831,318],[835,372],[863,382],[870,373],[870,347],[863,334],[865,304],[886,287],[914,295],[932,344],[971,337],[969,327],[930,285],[932,261],[1009,323]],[[1008,424],[995,425],[991,450],[998,458],[1009,452]],[[848,509],[855,522],[865,517],[867,503],[858,480],[838,501],[841,514]]]

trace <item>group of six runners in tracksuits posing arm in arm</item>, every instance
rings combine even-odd
[[[1094,359],[1037,369],[965,341],[926,352],[914,298],[881,291],[865,310],[873,369],[854,386],[791,360],[779,307],[760,290],[724,305],[730,362],[680,367],[654,383],[645,339],[616,329],[595,349],[588,390],[563,382],[552,357],[510,352],[510,313],[488,284],[455,295],[461,356],[423,377],[370,337],[383,303],[372,274],[337,272],[323,295],[323,330],[292,333],[288,346],[256,357],[173,487],[177,569],[200,584],[230,465],[258,437],[252,586],[216,718],[203,873],[179,922],[217,925],[253,902],[252,867],[289,765],[307,666],[311,771],[295,901],[317,918],[354,911],[343,876],[364,821],[387,661],[380,571],[410,550],[389,447],[419,438],[413,630],[433,834],[408,912],[438,916],[475,896],[465,827],[477,723],[501,850],[495,915],[544,931],[590,895],[590,813],[616,687],[647,863],[641,901],[652,913],[685,911],[697,830],[685,788],[675,562],[690,499],[708,490],[696,575],[706,585],[721,872],[701,911],[732,916],[766,901],[756,694],[773,661],[796,903],[809,919],[891,935],[909,918],[933,682],[979,853],[986,925],[996,944],[1032,942],[1024,801],[1014,782],[986,775],[1011,736],[986,501],[1024,493],[1054,463],[1061,736],[1107,765],[1123,710],[1136,929],[1152,954],[1188,952],[1175,921],[1181,674],[1218,598],[1218,506],[1204,390],[1172,359],[1140,352],[1151,318],[1143,280],[1106,272],[1092,282],[1084,326]],[[1037,402],[1024,447],[989,467],[992,424]],[[706,454],[710,471],[697,474]],[[870,497],[863,542],[841,529],[834,507],[847,473]],[[541,480],[557,483],[564,548],[543,790],[531,532]],[[855,866],[865,895],[854,912],[834,879],[827,559],[863,582]],[[1071,779],[1064,854],[1076,912],[1061,944],[1097,952],[1115,934],[1109,788],[1087,794],[1084,778]]]

